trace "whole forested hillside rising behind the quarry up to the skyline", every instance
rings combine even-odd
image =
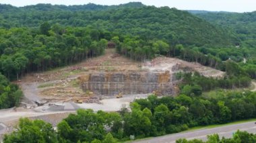
[[[186,11],[141,3],[0,5],[0,11],[0,72],[9,80],[99,56],[108,42],[133,60],[161,54],[230,71],[226,88],[247,87],[248,77],[256,78],[253,49],[234,48],[240,40],[232,30]],[[235,63],[243,58],[249,64]],[[225,62],[228,59],[235,62]],[[201,87],[210,90],[221,85],[216,81],[210,88]]]

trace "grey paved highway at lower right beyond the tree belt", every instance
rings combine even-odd
[[[180,138],[187,138],[187,140],[193,140],[195,138],[200,140],[207,140],[207,135],[210,135],[210,134],[219,134],[220,138],[222,138],[222,136],[224,136],[225,138],[230,138],[232,137],[232,133],[236,132],[236,130],[247,131],[247,132],[256,134],[256,124],[255,122],[247,122],[243,124],[234,124],[234,125],[222,126],[218,128],[193,130],[189,132],[181,132],[177,134],[159,136],[156,138],[139,140],[135,142],[136,143],[155,143],[155,142],[172,143]]]

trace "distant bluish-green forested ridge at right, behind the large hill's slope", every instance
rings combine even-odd
[[[199,12],[198,17],[234,32],[244,47],[256,47],[256,11],[249,13]]]

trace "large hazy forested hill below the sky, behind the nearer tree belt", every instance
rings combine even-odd
[[[152,7],[142,3],[123,5],[51,5],[26,7],[0,5],[0,26],[38,27],[44,21],[51,25],[92,26],[139,36],[146,40],[162,39],[169,44],[187,46],[234,46],[239,43],[228,30],[218,28],[187,11],[169,7]]]

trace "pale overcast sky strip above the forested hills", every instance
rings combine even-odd
[[[177,9],[184,10],[256,11],[256,0],[0,0],[0,3],[21,7],[24,5],[35,5],[37,3],[58,5],[84,5],[87,3],[119,5],[121,3],[129,3],[130,1],[141,1],[145,5],[176,7]]]

